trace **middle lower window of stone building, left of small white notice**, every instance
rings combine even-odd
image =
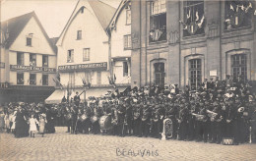
[[[202,82],[202,64],[201,59],[192,59],[189,61],[190,68],[190,86],[192,88],[198,88]]]

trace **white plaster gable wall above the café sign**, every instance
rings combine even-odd
[[[77,30],[82,30],[80,40],[77,40]],[[108,43],[104,43],[108,40],[107,35],[89,7],[84,9],[84,13],[78,13],[61,38],[62,43],[58,46],[58,66],[108,62]],[[83,61],[84,48],[90,48],[90,61]],[[73,63],[67,63],[70,49],[74,49]]]

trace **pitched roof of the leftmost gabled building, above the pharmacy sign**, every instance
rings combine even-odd
[[[34,18],[34,20],[36,21],[36,23],[40,27],[41,31],[43,32],[43,35],[47,39],[47,41],[48,41],[50,47],[52,48],[52,50],[55,51],[54,46],[51,43],[46,31],[44,30],[44,28],[40,24],[37,16],[35,15],[35,13],[33,11],[31,13],[28,13],[28,14],[25,14],[25,15],[22,15],[22,16],[19,16],[19,17],[15,17],[15,18],[9,19],[9,20],[4,21],[4,22],[1,22],[1,30],[5,34],[7,32],[9,33],[8,38],[5,40],[5,48],[9,48],[14,43],[16,38],[19,36],[21,31],[24,29],[24,27],[26,27],[26,25],[29,23],[29,21],[32,19],[32,17]]]

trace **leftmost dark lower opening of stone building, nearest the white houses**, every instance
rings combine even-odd
[[[155,83],[163,86],[164,85],[164,63],[156,63],[155,67]]]

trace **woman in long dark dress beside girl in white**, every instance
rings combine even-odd
[[[15,137],[25,137],[30,135],[29,134],[29,125],[26,121],[24,112],[22,111],[22,107],[19,107],[16,116],[16,126],[15,126]]]

